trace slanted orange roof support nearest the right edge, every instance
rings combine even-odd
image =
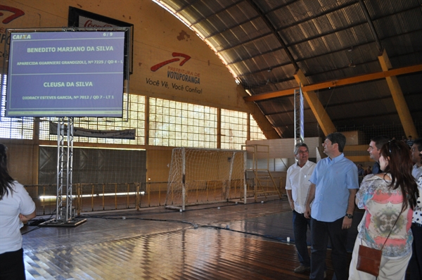
[[[378,56],[378,60],[380,61],[383,71],[388,71],[392,68],[390,58],[388,58],[388,54],[385,49],[381,56]],[[406,136],[411,135],[414,139],[418,138],[418,132],[416,131],[415,124],[411,118],[409,107],[404,99],[402,88],[400,87],[397,77],[385,77],[385,80],[387,81],[388,88],[390,89],[392,100],[394,101],[397,109],[397,114],[402,122],[404,133]]]

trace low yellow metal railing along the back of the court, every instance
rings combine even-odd
[[[253,184],[252,182],[249,182]],[[192,186],[189,199],[192,202],[210,203],[219,193],[215,182],[205,182],[206,188]],[[247,183],[248,190],[253,186]],[[194,184],[195,185],[195,184]],[[77,215],[83,212],[125,210],[151,208],[165,205],[167,182],[149,183],[108,183],[108,184],[73,184],[73,210]],[[56,214],[57,186],[27,185],[25,186],[37,208],[37,215]],[[280,186],[281,189],[281,186]],[[252,197],[251,195],[250,197]],[[248,196],[249,197],[249,196]],[[229,199],[243,198],[241,186],[232,184]],[[63,199],[66,199],[63,197]]]

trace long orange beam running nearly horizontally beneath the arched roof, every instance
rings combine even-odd
[[[345,86],[347,84],[357,84],[359,82],[367,82],[372,81],[374,79],[385,79],[387,77],[404,75],[420,71],[422,71],[422,64],[397,68],[393,70],[383,70],[383,72],[376,72],[356,77],[348,77],[345,79],[335,79],[333,81],[321,82],[318,84],[309,84],[308,86],[302,87],[302,91],[316,91],[319,89],[328,89],[329,87],[340,87]],[[299,89],[299,87],[294,87],[293,89],[283,89],[282,91],[274,91],[268,94],[257,94],[254,96],[247,96],[245,97],[245,101],[260,101],[280,96],[290,96],[293,95],[295,89]]]

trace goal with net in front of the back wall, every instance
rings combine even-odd
[[[246,151],[174,148],[167,184],[167,208],[246,201]]]

